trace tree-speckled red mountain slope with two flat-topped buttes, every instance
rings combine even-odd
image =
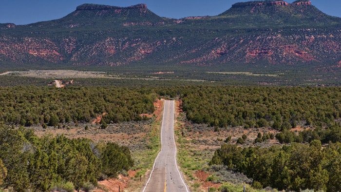
[[[341,61],[341,18],[309,0],[236,3],[213,17],[167,19],[145,4],[83,4],[61,19],[0,24],[0,61],[127,65]]]

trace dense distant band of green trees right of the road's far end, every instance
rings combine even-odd
[[[341,88],[188,87],[182,94],[189,120],[211,126],[285,130],[298,123],[329,126],[340,118]]]

